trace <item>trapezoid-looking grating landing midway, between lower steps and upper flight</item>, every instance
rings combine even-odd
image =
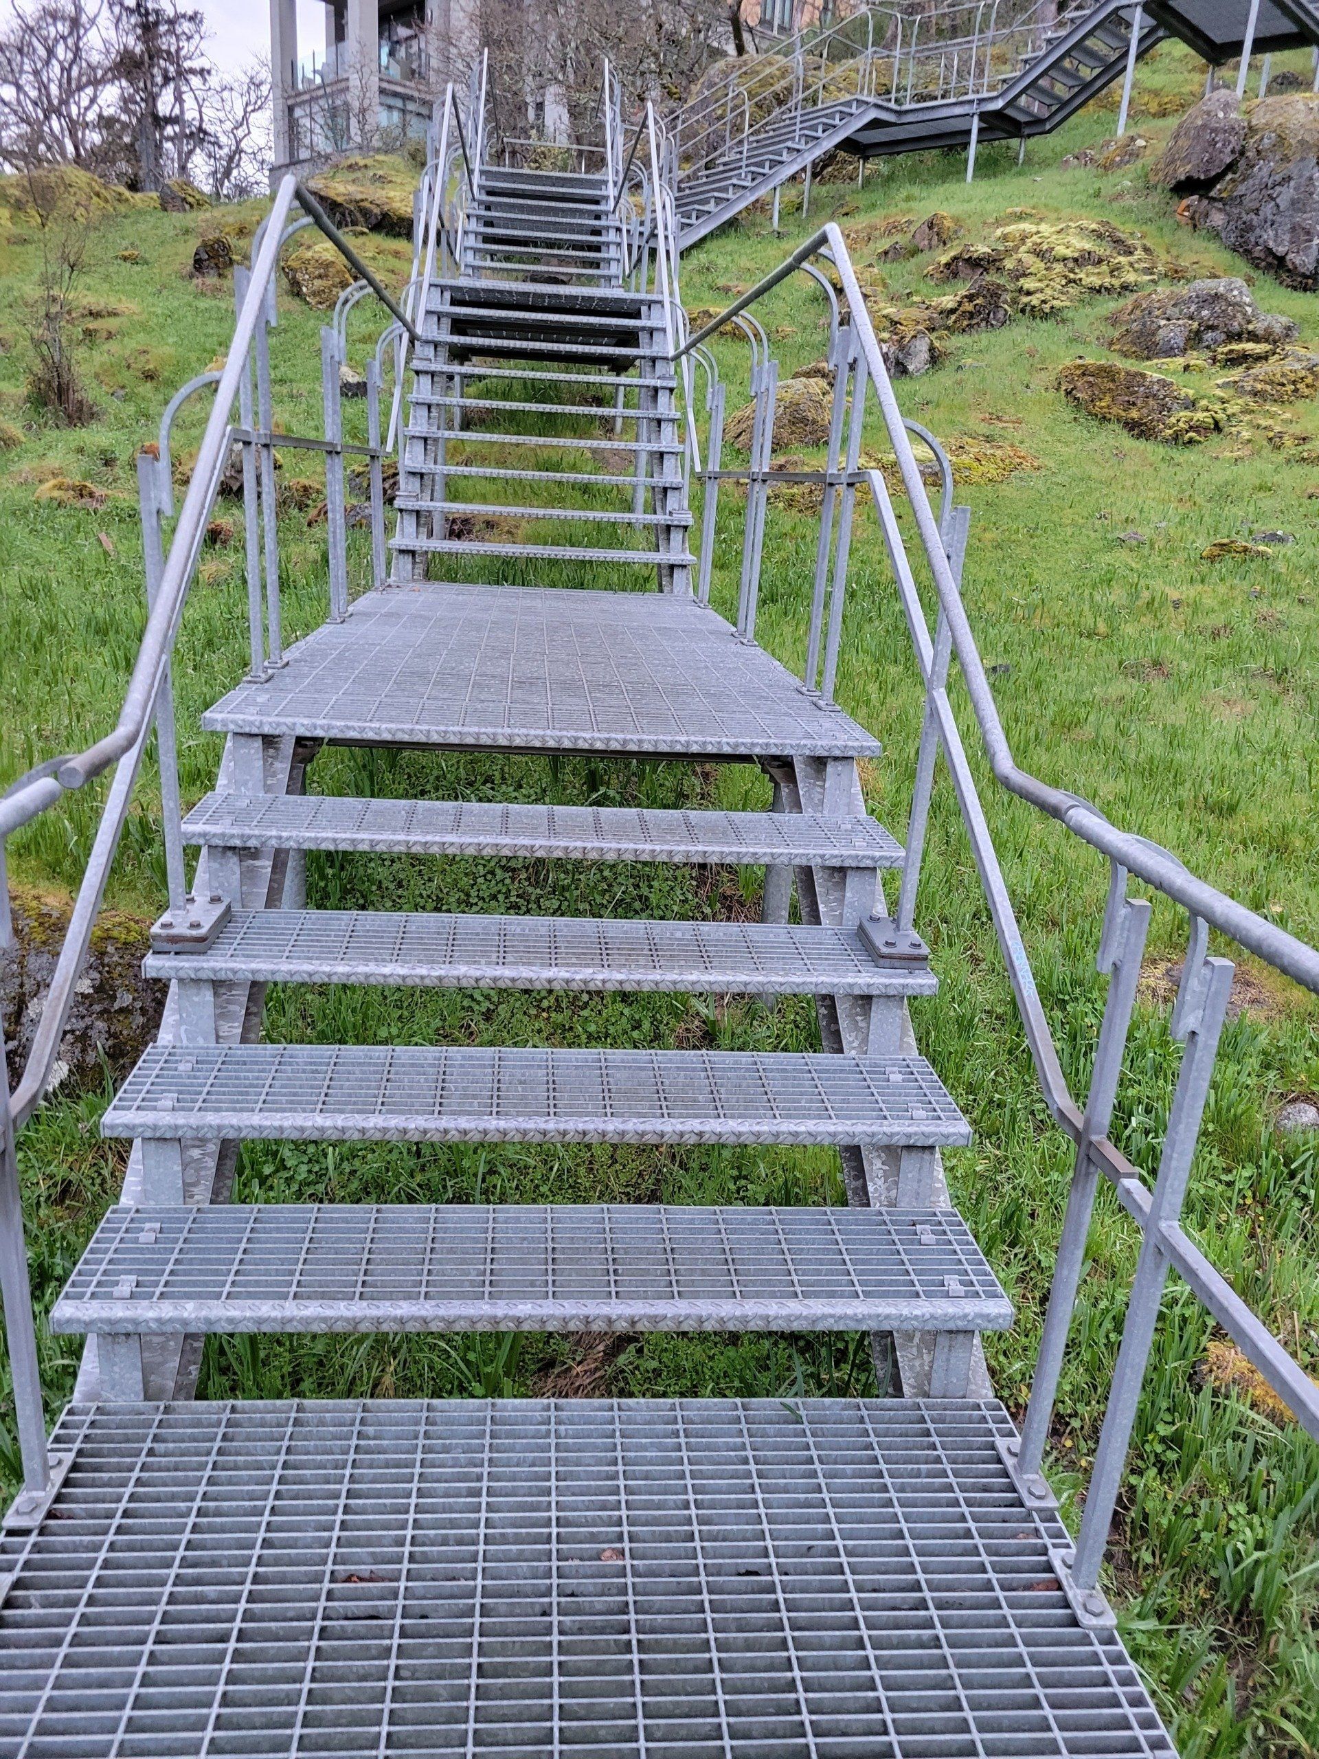
[[[202,716],[213,732],[693,756],[876,756],[846,714],[691,598],[382,588]]]

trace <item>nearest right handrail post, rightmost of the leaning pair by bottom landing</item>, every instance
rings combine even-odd
[[[1203,925],[1199,925],[1203,927]],[[1104,1423],[1099,1432],[1099,1444],[1094,1451],[1094,1472],[1085,1493],[1085,1513],[1082,1530],[1076,1537],[1076,1562],[1073,1564],[1073,1581],[1085,1599],[1096,1590],[1099,1566],[1108,1548],[1108,1530],[1113,1523],[1117,1493],[1122,1485],[1131,1432],[1136,1423],[1136,1405],[1145,1381],[1145,1365],[1154,1344],[1154,1330],[1159,1323],[1159,1303],[1164,1282],[1168,1281],[1168,1256],[1159,1240],[1159,1230],[1177,1226],[1182,1214],[1191,1161],[1196,1152],[1199,1120],[1205,1115],[1210,1080],[1213,1077],[1213,1059],[1219,1050],[1222,1022],[1228,1015],[1231,997],[1233,964],[1229,959],[1194,957],[1196,932],[1192,918],[1192,952],[1182,967],[1182,985],[1173,1010],[1173,1031],[1178,1031],[1177,1015],[1182,1001],[1191,1003],[1192,1020],[1185,1029],[1185,1052],[1177,1077],[1173,1108],[1168,1115],[1168,1129],[1159,1157],[1159,1177],[1154,1182],[1150,1212],[1145,1219],[1136,1275],[1131,1284],[1127,1302],[1127,1319],[1122,1326],[1122,1344],[1113,1369],[1113,1384],[1104,1411]],[[1178,1034],[1180,1036],[1180,1034]],[[1096,1595],[1097,1599],[1097,1595]],[[1097,1609],[1097,1608],[1096,1608]]]

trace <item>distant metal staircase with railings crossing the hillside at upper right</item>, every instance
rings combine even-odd
[[[930,148],[974,157],[988,141],[1024,148],[1115,79],[1129,83],[1140,56],[1170,35],[1217,65],[1242,47],[1319,44],[1319,11],[1308,0],[862,7],[776,44],[747,69],[728,63],[667,120],[681,167],[681,246],[790,178],[809,178],[835,150],[865,160]]]

